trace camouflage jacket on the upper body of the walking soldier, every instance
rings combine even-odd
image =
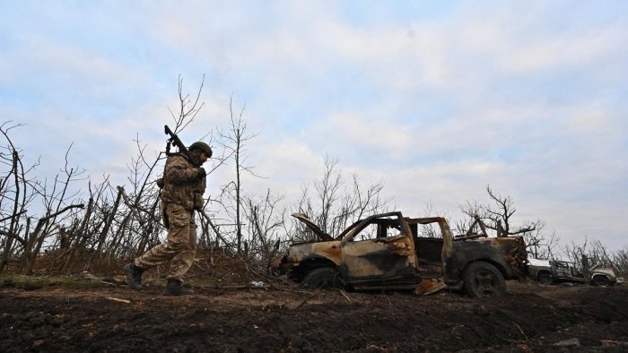
[[[202,209],[205,177],[198,178],[196,174],[196,168],[182,155],[166,159],[161,202],[177,203],[189,211]]]

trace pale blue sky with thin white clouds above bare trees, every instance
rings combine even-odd
[[[243,109],[248,193],[296,200],[329,156],[407,216],[491,185],[563,245],[627,245],[628,2],[0,0],[0,23],[0,124],[40,177],[71,146],[128,183],[181,77],[205,103],[183,140]]]

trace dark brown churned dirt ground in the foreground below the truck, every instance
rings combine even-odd
[[[4,280],[0,351],[628,351],[625,285],[510,281],[506,297],[482,300],[265,285],[163,297],[158,282],[135,292]]]

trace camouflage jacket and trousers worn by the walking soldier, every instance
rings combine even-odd
[[[170,263],[168,279],[182,281],[194,262],[196,253],[196,223],[194,210],[203,208],[205,176],[182,155],[166,160],[161,189],[161,215],[168,231],[165,243],[154,246],[135,259],[135,266],[149,269]]]

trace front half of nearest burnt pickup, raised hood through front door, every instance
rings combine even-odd
[[[304,287],[414,288],[421,276],[410,228],[401,212],[358,220],[337,237],[324,233],[305,215],[320,241],[291,245],[282,272]]]

